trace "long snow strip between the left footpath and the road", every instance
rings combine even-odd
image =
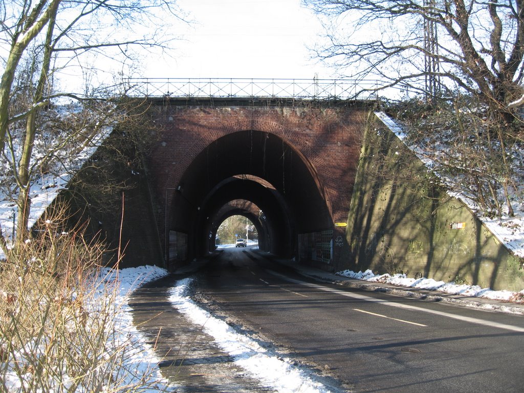
[[[303,370],[294,367],[290,359],[282,359],[271,354],[255,340],[235,332],[226,322],[198,307],[189,297],[185,296],[190,284],[191,279],[178,281],[171,290],[170,301],[191,322],[203,326],[203,331],[214,337],[215,342],[233,357],[237,365],[243,367],[264,385],[278,392],[329,392]]]

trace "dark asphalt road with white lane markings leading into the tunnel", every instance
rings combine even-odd
[[[196,289],[246,328],[354,392],[523,392],[524,317],[304,278],[226,249]]]

